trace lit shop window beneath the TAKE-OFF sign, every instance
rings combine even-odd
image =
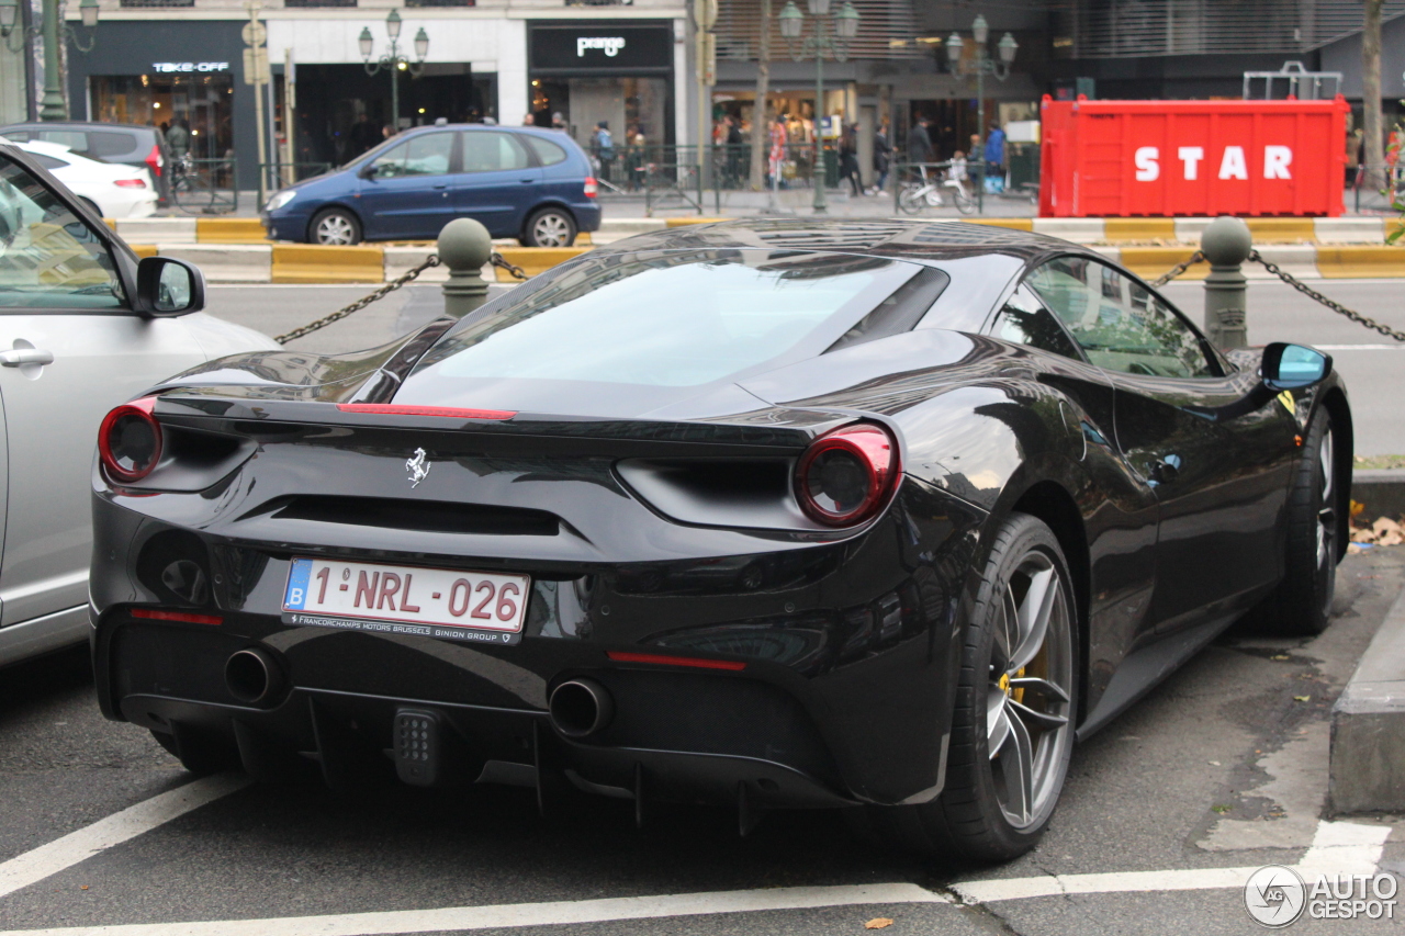
[[[228,72],[94,76],[93,117],[160,126],[173,155],[223,159],[233,149],[233,76]],[[184,131],[174,132],[174,128]]]

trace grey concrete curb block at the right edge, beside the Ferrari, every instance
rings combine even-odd
[[[1405,810],[1405,593],[1332,706],[1328,805],[1333,815]]]

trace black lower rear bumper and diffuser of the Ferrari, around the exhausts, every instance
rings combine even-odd
[[[98,628],[96,656],[107,714],[166,734],[174,748],[200,743],[236,756],[250,774],[275,780],[320,773],[332,787],[364,787],[396,777],[398,713],[438,720],[437,776],[431,786],[503,783],[531,786],[551,797],[576,787],[620,798],[735,802],[832,808],[858,802],[839,780],[819,732],[787,693],[733,675],[660,672],[648,668],[579,669],[606,686],[615,703],[611,722],[589,739],[558,732],[537,704],[545,684],[530,676],[521,697],[497,704],[444,701],[441,693],[365,693],[292,684],[267,704],[236,700],[225,686],[223,663],[244,646],[260,646],[284,673],[296,666],[295,646],[251,641],[200,625],[126,621]],[[343,663],[374,666],[378,648],[360,634],[312,632],[306,642],[343,644]],[[409,641],[406,641],[409,642]],[[416,648],[433,654],[458,649]],[[325,652],[325,651],[323,651]],[[448,654],[452,655],[452,654]],[[400,687],[433,686],[436,666],[403,665]],[[464,682],[472,677],[465,673]],[[495,693],[479,693],[492,697]],[[541,698],[544,704],[544,698]],[[429,784],[427,784],[429,786]],[[641,787],[646,794],[641,794]],[[745,788],[745,793],[743,793]]]

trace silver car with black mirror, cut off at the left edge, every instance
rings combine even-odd
[[[87,639],[93,433],[162,378],[277,347],[202,315],[204,280],[136,254],[0,145],[0,663]]]

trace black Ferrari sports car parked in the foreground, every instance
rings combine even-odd
[[[191,770],[843,808],[1000,860],[1228,624],[1325,627],[1350,451],[1331,358],[1221,353],[1062,240],[642,235],[114,410],[98,697]]]

